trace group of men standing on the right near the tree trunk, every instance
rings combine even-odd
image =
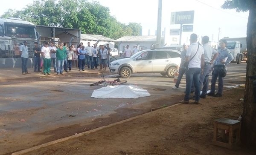
[[[181,63],[177,82],[173,89],[178,89],[180,80],[186,72],[186,91],[180,103],[188,104],[189,99],[194,99],[194,104],[198,104],[200,98],[206,96],[221,97],[223,92],[223,80],[226,75],[226,66],[233,59],[233,55],[227,49],[227,40],[219,41],[219,50],[213,49],[209,44],[209,37],[202,37],[202,45],[197,42],[197,35],[190,35],[190,45],[183,45],[181,52]],[[213,55],[213,56],[212,56]],[[207,93],[209,85],[209,74],[212,72],[211,89]],[[218,79],[218,92],[215,94],[215,83]],[[202,89],[202,93],[200,94]],[[194,93],[190,97],[191,93]]]

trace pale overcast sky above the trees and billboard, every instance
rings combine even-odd
[[[94,1],[108,7],[111,15],[121,23],[140,23],[142,35],[155,35],[158,0]],[[1,3],[6,7],[0,10],[0,15],[8,9],[21,10],[26,5],[32,4],[33,0],[8,0]],[[189,35],[192,33],[198,34],[199,38],[208,35],[213,42],[223,37],[246,37],[249,12],[221,9],[223,3],[224,0],[162,0],[161,31],[166,30],[166,35],[169,35],[170,29],[180,28],[179,24],[170,24],[172,12],[194,10],[193,32],[183,32],[182,43],[187,43]]]

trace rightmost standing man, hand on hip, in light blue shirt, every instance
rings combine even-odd
[[[214,63],[213,71],[212,71],[212,84],[211,84],[211,92],[209,92],[208,96],[221,97],[223,91],[223,80],[224,78],[220,74],[220,71],[225,66],[229,64],[233,59],[233,55],[230,50],[227,49],[227,40],[221,39],[219,42],[220,49],[218,50],[218,57]],[[215,83],[218,78],[218,92],[215,94]]]

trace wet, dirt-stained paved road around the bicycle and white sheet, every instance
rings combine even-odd
[[[76,71],[74,71],[76,72]],[[225,86],[244,84],[246,63],[228,66]],[[106,75],[114,79],[117,75]],[[93,76],[70,74],[17,79],[1,83],[0,152],[3,154],[73,135],[150,111],[183,98],[185,80],[173,90],[172,78],[160,74],[134,74],[129,84],[141,86],[151,94],[138,99],[91,98]],[[227,88],[226,88],[227,89]],[[25,121],[20,121],[24,119]],[[20,143],[20,140],[23,143]],[[1,154],[1,153],[0,153]]]

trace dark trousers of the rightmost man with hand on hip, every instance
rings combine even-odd
[[[223,80],[224,78],[221,77],[221,75],[219,74],[219,71],[222,69],[223,67],[218,67],[215,66],[213,71],[212,71],[212,85],[211,85],[211,92],[210,93],[215,93],[215,84],[216,84],[216,80],[218,78],[218,94],[222,95],[223,92]]]

